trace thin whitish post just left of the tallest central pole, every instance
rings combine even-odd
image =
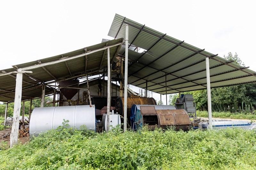
[[[106,131],[108,132],[109,130],[109,111],[110,111],[110,52],[109,52],[109,48],[108,48],[108,100],[107,100],[107,129]]]

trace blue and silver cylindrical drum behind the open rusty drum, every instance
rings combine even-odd
[[[143,106],[143,107],[154,106],[156,110],[176,109],[173,105],[132,105],[131,111],[130,111],[130,120],[131,120],[131,126],[133,126],[133,129],[135,128],[135,125],[134,125],[135,114],[137,110],[140,110],[140,106]]]

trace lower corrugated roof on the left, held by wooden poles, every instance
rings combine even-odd
[[[59,61],[63,57],[72,57],[75,55],[84,54],[85,50],[93,51],[100,48],[106,47],[106,43],[108,43],[108,46],[118,44],[120,42],[123,42],[123,38],[119,38],[116,40],[111,40],[107,42],[103,42],[100,44],[96,44],[90,47],[85,47],[76,51],[68,52],[61,55],[56,55],[49,58],[43,58],[40,59],[41,63],[48,63],[52,61]],[[118,50],[121,48],[121,46],[115,46],[110,48],[110,60],[113,58],[114,55],[117,54]],[[104,56],[103,56],[104,54]],[[100,66],[101,60],[103,57],[102,64]],[[107,66],[107,50],[104,53],[104,50],[101,50],[99,52],[95,52],[92,54],[87,55],[87,66],[85,70],[85,57],[76,58],[73,60],[69,60],[67,62],[62,62],[54,65],[45,66],[45,69],[50,72],[47,73],[43,68],[37,68],[30,71],[33,71],[32,74],[28,74],[30,78],[27,75],[23,74],[23,83],[22,83],[22,100],[27,100],[35,97],[41,97],[42,93],[42,83],[41,82],[49,82],[52,80],[62,80],[64,78],[70,78],[77,75],[81,75],[87,72],[90,72],[92,70],[100,70]],[[33,66],[39,64],[38,61],[32,61],[28,63],[23,64],[17,64],[14,65],[13,68],[1,70],[6,72],[15,71],[17,68],[24,68],[28,66]],[[99,68],[100,67],[100,68]],[[68,70],[69,69],[69,70]],[[69,72],[70,71],[70,72]],[[71,74],[70,74],[71,73]],[[53,77],[54,78],[53,78]],[[13,101],[15,96],[15,86],[16,86],[16,74],[12,74],[12,77],[10,75],[1,76],[0,77],[0,101]],[[37,81],[39,80],[39,81]],[[33,89],[32,89],[33,88]],[[28,90],[29,89],[29,90]],[[52,88],[46,87],[46,94],[52,93]]]

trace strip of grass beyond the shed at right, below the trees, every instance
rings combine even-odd
[[[208,112],[196,111],[196,115],[198,117],[208,117]],[[252,113],[212,112],[212,117],[256,120],[256,114],[252,114]]]

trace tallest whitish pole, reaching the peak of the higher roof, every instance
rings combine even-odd
[[[128,82],[128,33],[129,25],[125,25],[125,62],[124,62],[124,132],[127,122],[127,82]]]

